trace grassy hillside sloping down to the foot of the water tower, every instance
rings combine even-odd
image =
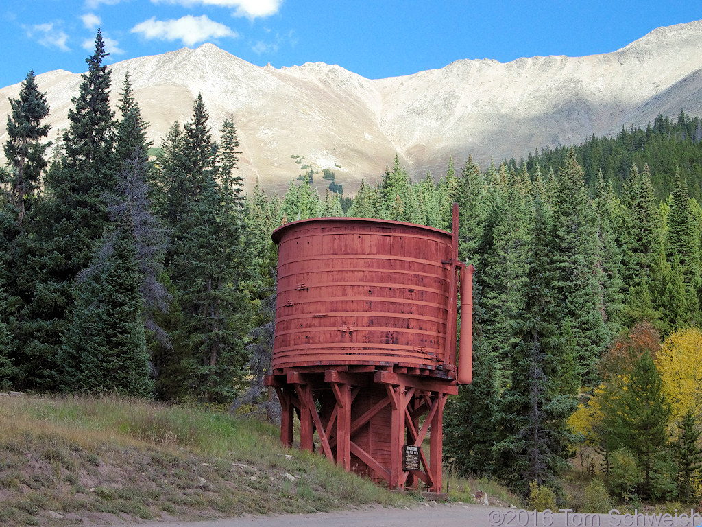
[[[123,398],[0,398],[0,525],[202,519],[411,499],[274,427]]]

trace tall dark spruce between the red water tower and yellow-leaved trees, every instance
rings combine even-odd
[[[529,481],[553,486],[567,467],[572,437],[567,419],[574,412],[577,386],[573,339],[559,321],[554,294],[548,215],[540,197],[534,206],[524,310],[515,321],[510,382],[501,395],[501,440],[495,445],[496,475],[522,495]]]

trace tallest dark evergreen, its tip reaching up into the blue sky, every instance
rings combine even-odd
[[[109,223],[107,196],[114,192],[114,114],[110,109],[110,70],[100,31],[95,52],[86,59],[79,96],[72,99],[65,155],[53,164],[34,219],[27,259],[32,276],[22,296],[20,315],[21,389],[56,389],[74,360],[59,360],[62,334],[73,318],[74,280],[90,266],[97,242]]]

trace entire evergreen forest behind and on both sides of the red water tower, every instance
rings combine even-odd
[[[699,117],[484,170],[449,159],[420,181],[396,156],[354,197],[296,174],[282,196],[246,194],[234,116],[214,134],[198,96],[152,145],[105,56],[98,31],[53,141],[32,71],[11,99],[0,389],[265,406],[272,230],[320,216],[450,230],[458,202],[459,256],[477,272],[473,382],[444,416],[451,469],[523,496],[560,496],[581,471],[618,500],[702,497]]]

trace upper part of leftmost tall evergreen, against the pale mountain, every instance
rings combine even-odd
[[[25,218],[25,200],[39,192],[42,172],[46,168],[46,149],[51,142],[43,143],[51,125],[42,124],[48,117],[46,93],[39,91],[34,70],[20,84],[20,96],[10,99],[11,113],[7,116],[8,140],[3,145],[9,172],[12,202],[17,207],[17,223],[22,226]]]

